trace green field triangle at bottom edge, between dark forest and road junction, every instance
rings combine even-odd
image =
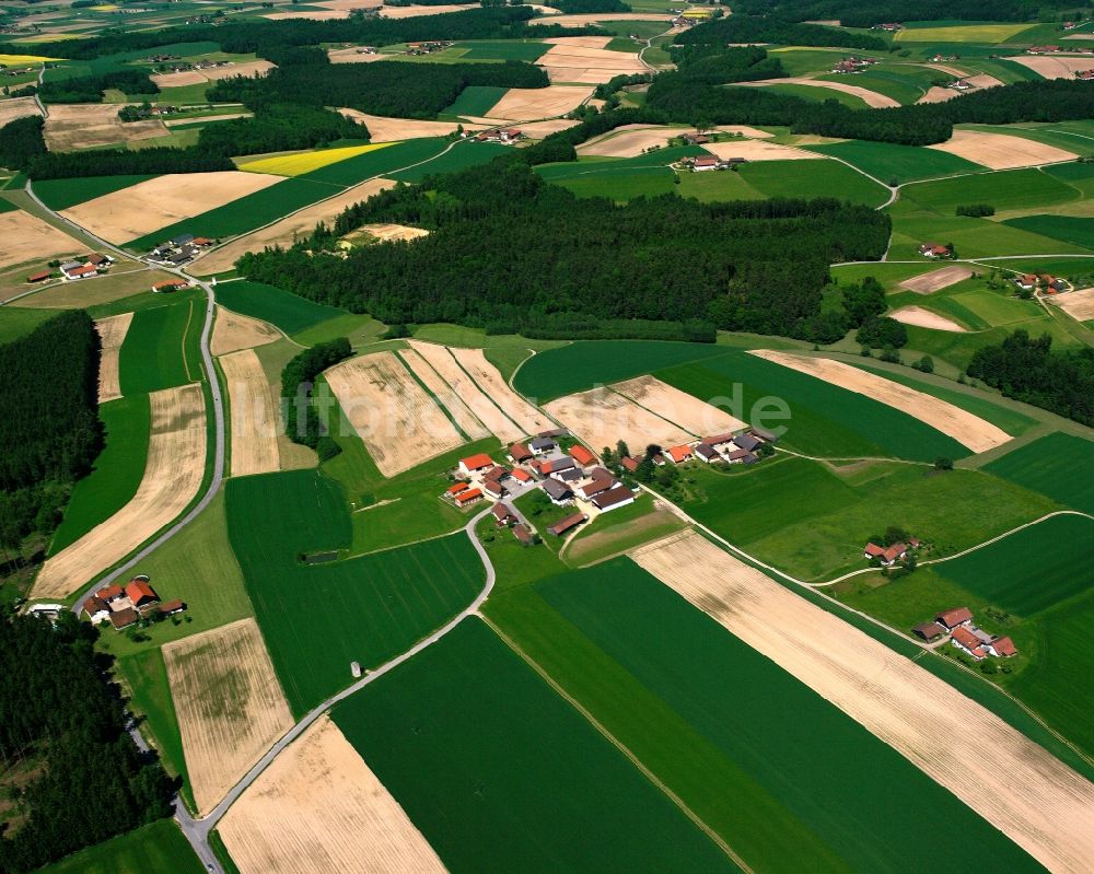
[[[171,819],[73,853],[39,874],[201,874],[205,869]]]

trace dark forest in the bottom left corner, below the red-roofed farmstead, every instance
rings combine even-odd
[[[0,840],[0,871],[34,871],[171,815],[173,782],[126,733],[96,633],[68,611],[56,627],[0,613],[0,761],[42,766],[14,790],[13,813],[27,818]]]

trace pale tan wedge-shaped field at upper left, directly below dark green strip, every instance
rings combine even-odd
[[[96,197],[61,214],[110,243],[126,243],[279,182],[283,182],[281,176],[237,170],[173,173]]]

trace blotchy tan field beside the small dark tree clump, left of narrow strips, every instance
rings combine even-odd
[[[328,370],[326,378],[385,477],[463,443],[394,352],[350,359]]]

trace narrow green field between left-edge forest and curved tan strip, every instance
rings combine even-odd
[[[88,476],[72,488],[65,517],[49,545],[56,555],[105,522],[137,493],[148,458],[151,410],[148,395],[112,400],[98,408],[105,430],[103,451]]]

